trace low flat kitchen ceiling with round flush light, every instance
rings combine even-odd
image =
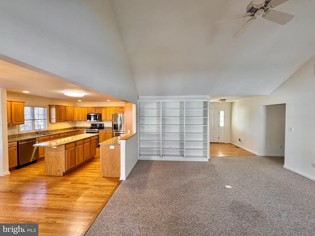
[[[14,63],[22,64],[14,61]],[[118,98],[99,93],[95,90],[74,84],[64,78],[49,74],[45,71],[37,72],[37,68],[23,64],[23,66],[0,60],[0,88],[7,89],[8,92],[22,94],[24,90],[29,91],[29,95],[41,96],[53,99],[62,99],[77,102],[112,102],[122,101]],[[57,77],[57,78],[56,78]],[[84,97],[68,97],[65,91],[80,91]]]

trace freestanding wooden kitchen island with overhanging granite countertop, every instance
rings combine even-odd
[[[97,134],[79,134],[33,146],[45,148],[45,171],[48,176],[63,176],[96,154]]]

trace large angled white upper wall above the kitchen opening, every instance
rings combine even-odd
[[[0,54],[137,102],[109,0],[0,0],[0,6]]]

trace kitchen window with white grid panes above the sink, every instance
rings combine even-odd
[[[24,124],[20,125],[20,131],[37,131],[47,128],[46,107],[24,107]]]

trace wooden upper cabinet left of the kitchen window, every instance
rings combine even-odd
[[[24,102],[7,101],[6,105],[8,124],[24,124]]]

